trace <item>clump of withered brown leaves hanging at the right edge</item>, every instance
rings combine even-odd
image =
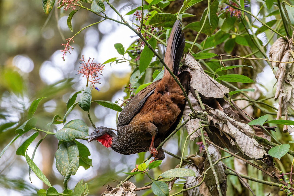
[[[293,48],[292,39],[286,41],[283,38],[278,38],[275,43],[270,47],[270,60],[280,62],[293,62]],[[289,120],[288,112],[294,110],[294,64],[293,63],[278,63],[271,62],[273,70],[276,70],[275,78],[277,78],[277,88],[275,92],[275,100],[279,100],[279,108],[277,119],[282,115],[285,120]],[[276,69],[278,68],[278,69]],[[284,125],[283,131],[292,133],[294,128]]]

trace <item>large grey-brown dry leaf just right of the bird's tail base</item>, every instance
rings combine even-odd
[[[208,76],[190,53],[187,54],[184,64],[188,67],[186,70],[193,76],[190,85],[203,96],[222,98],[230,91],[229,88]]]

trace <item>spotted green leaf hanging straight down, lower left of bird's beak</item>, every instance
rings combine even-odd
[[[56,168],[59,171],[59,173],[63,176],[66,176],[67,170],[69,168],[69,165],[71,161],[78,157],[78,147],[76,143],[70,142],[62,142],[55,153],[55,159],[56,159]],[[79,161],[77,160],[73,169],[71,175],[75,175],[76,171],[78,170],[78,164]]]

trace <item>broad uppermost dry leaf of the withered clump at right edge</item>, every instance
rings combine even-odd
[[[287,41],[282,37],[278,38],[275,43],[270,47],[268,53],[271,61],[281,61],[285,48],[287,47]],[[272,67],[277,67],[279,63],[271,63]]]

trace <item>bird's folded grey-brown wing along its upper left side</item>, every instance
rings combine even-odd
[[[147,100],[147,98],[153,94],[155,87],[157,86],[158,82],[160,82],[161,79],[151,83],[146,88],[143,88],[139,93],[137,93],[123,108],[121,111],[118,121],[117,121],[117,127],[121,127],[123,125],[127,125],[130,123],[132,118],[139,112],[139,110],[142,108],[143,104]]]

